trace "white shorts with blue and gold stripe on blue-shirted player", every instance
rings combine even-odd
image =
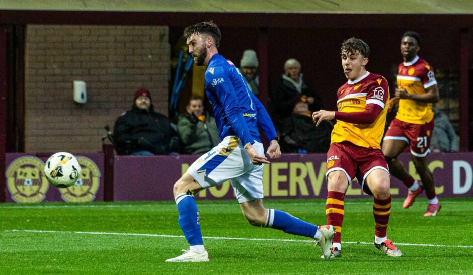
[[[253,148],[264,156],[263,144]],[[239,203],[263,198],[263,165],[251,162],[238,137],[228,136],[203,154],[187,172],[203,187],[217,186],[230,180]]]

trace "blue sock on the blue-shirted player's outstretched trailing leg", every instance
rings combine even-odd
[[[286,233],[315,238],[319,227],[317,225],[304,222],[289,215],[286,212],[268,209],[268,217],[265,227],[283,230]]]

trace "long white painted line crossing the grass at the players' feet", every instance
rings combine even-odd
[[[178,235],[163,234],[143,234],[143,233],[118,233],[118,232],[84,232],[84,231],[53,231],[53,230],[4,230],[5,233],[54,233],[54,234],[87,234],[87,235],[115,235],[115,236],[138,236],[138,237],[156,237],[156,238],[184,238]],[[291,239],[264,239],[264,238],[233,238],[233,237],[202,237],[210,240],[239,240],[239,241],[279,241],[279,242],[313,242],[313,240],[291,240]],[[344,244],[369,244],[372,242],[353,242],[344,241]],[[452,247],[452,248],[473,248],[473,245],[444,245],[444,244],[425,244],[425,243],[396,243],[403,246],[425,246],[425,247]]]

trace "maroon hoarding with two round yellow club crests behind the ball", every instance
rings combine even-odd
[[[44,163],[49,156],[27,153],[7,153],[5,176],[6,202],[91,202],[104,200],[104,155],[75,154],[81,165],[81,175],[68,188],[56,188],[44,175]]]

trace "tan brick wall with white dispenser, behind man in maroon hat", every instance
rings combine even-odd
[[[131,108],[137,88],[167,115],[168,27],[28,25],[25,53],[25,151],[96,152],[106,124]],[[73,81],[87,103],[73,101]]]

